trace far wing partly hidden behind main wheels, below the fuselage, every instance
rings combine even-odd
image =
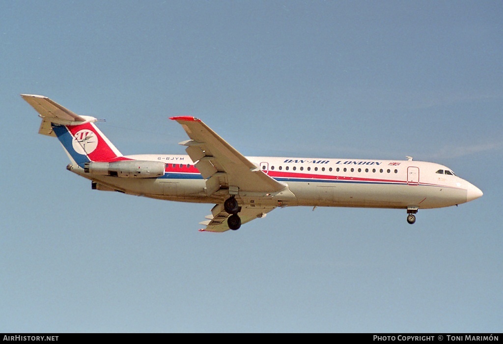
[[[239,217],[241,218],[241,224],[249,222],[251,220],[265,217],[274,208],[241,208],[239,212]],[[229,230],[227,225],[227,218],[230,214],[226,213],[223,209],[223,204],[217,204],[211,209],[211,215],[206,216],[206,221],[200,222],[202,225],[206,225],[206,228],[200,229],[202,232],[225,232]]]

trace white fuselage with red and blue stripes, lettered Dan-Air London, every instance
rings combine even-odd
[[[228,198],[226,190],[207,195],[206,181],[188,155],[124,158],[164,162],[164,176],[129,179],[85,174],[78,166],[71,170],[99,183],[100,190],[182,202],[222,203]],[[239,190],[236,196],[245,206],[429,209],[465,203],[482,195],[448,167],[433,162],[254,156],[247,159],[286,189],[274,195]]]

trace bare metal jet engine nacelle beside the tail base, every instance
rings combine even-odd
[[[164,176],[165,163],[160,161],[92,161],[84,164],[84,172],[92,175],[121,178],[157,178]]]

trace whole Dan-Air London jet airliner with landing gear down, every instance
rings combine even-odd
[[[200,231],[237,230],[277,207],[392,208],[415,222],[419,209],[475,200],[482,191],[444,165],[407,160],[245,157],[200,119],[177,116],[187,154],[122,155],[98,129],[44,96],[21,95],[42,118],[39,133],[57,137],[66,169],[94,190],[214,204]]]

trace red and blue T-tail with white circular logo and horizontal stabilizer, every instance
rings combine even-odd
[[[94,124],[96,118],[79,116],[47,97],[21,95],[42,118],[39,134],[56,136],[73,163],[113,161],[122,156]]]

